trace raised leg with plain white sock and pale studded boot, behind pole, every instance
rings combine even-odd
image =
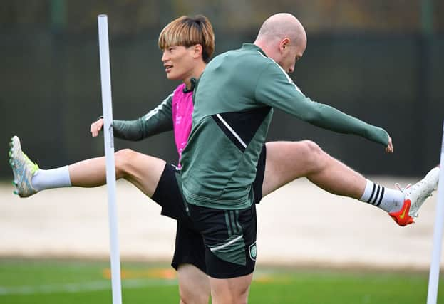
[[[19,137],[11,139],[9,163],[14,173],[16,194],[31,196],[44,189],[98,187],[106,183],[105,157],[86,159],[56,169],[39,169],[21,150]],[[152,196],[165,162],[162,159],[125,149],[115,152],[116,178],[127,179],[144,194]]]

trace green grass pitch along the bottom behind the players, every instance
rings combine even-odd
[[[167,264],[121,263],[123,303],[179,303]],[[107,261],[0,259],[0,303],[112,303]],[[249,303],[425,303],[428,273],[258,266]],[[444,284],[440,283],[440,290]],[[438,297],[444,303],[444,297]]]

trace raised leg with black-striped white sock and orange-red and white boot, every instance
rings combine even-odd
[[[263,195],[299,177],[332,194],[349,196],[387,211],[400,225],[413,223],[425,199],[438,185],[439,168],[406,189],[378,185],[321,150],[309,140],[267,142]]]

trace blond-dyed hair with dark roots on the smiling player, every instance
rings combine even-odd
[[[161,50],[168,46],[202,46],[202,59],[205,63],[215,51],[215,33],[210,20],[202,15],[181,16],[162,29],[158,45]]]

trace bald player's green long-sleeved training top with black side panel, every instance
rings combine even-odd
[[[244,209],[273,109],[335,132],[388,145],[380,127],[307,98],[289,75],[251,43],[222,53],[195,88],[192,131],[182,152],[182,191],[190,204]]]

